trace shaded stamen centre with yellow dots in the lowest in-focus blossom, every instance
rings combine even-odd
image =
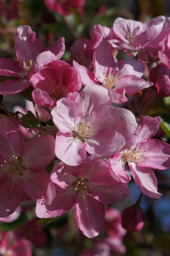
[[[77,181],[74,181],[72,183],[72,187],[75,188],[75,193],[83,193],[87,196],[91,196],[91,194],[88,193],[88,190],[94,190],[92,188],[93,184],[91,183],[91,181],[89,179],[83,179],[81,177],[77,177],[76,179]],[[82,195],[82,197],[84,197],[84,195]]]

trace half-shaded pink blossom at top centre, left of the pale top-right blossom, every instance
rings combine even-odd
[[[80,65],[87,68],[93,66],[93,53],[102,40],[114,38],[112,28],[94,25],[90,28],[90,40],[87,38],[77,38],[70,48],[71,60],[75,60]]]

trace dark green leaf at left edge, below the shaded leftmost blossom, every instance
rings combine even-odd
[[[16,221],[11,223],[0,222],[0,230],[9,231],[13,229],[18,229],[21,225],[23,225],[29,218],[26,213],[21,213],[19,218]]]

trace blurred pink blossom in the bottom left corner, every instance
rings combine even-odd
[[[0,255],[32,256],[30,242],[21,237],[15,237],[12,232],[1,232]]]

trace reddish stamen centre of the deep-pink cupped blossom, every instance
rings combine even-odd
[[[51,78],[50,78],[51,81]],[[64,97],[64,92],[66,87],[62,85],[62,80],[59,79],[58,85],[56,84],[56,81],[53,81],[50,86],[46,85],[46,87],[50,90],[51,97],[59,100]]]

